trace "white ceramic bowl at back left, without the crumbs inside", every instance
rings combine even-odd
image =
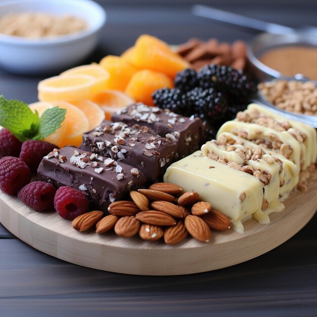
[[[74,15],[88,28],[41,39],[0,34],[0,67],[20,74],[55,73],[77,64],[94,50],[106,21],[103,8],[91,0],[0,1],[0,15],[26,11]]]

